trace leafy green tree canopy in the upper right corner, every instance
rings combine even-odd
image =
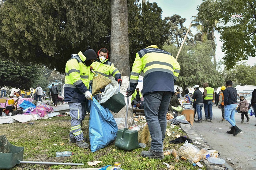
[[[237,61],[256,56],[256,3],[254,0],[203,0],[198,5],[198,17],[209,28],[216,20],[223,26],[217,27],[223,40],[225,65],[232,68]],[[207,31],[207,30],[204,30]]]

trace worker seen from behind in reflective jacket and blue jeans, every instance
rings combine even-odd
[[[127,89],[126,97],[135,92],[141,71],[144,72],[144,112],[152,138],[150,149],[142,151],[141,155],[163,159],[166,113],[170,98],[174,94],[174,83],[180,73],[180,65],[172,54],[158,49],[156,45],[138,51],[132,66],[130,89]]]

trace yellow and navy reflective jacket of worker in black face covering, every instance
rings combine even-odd
[[[90,66],[86,66],[86,57],[80,51],[72,55],[65,67],[64,101],[84,103],[85,93],[89,89],[91,78]]]

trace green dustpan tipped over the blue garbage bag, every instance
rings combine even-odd
[[[105,108],[108,108],[110,111],[114,113],[117,113],[125,107],[124,95],[118,92],[117,94],[110,97],[107,101],[101,103],[100,105],[104,106]]]

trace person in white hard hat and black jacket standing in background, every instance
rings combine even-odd
[[[203,100],[203,93],[199,90],[199,85],[194,86],[195,92],[193,93],[193,96],[191,97],[194,99],[194,103],[196,104],[196,112],[197,112],[197,117],[198,120],[195,121],[196,123],[202,123],[202,107],[204,104]]]

